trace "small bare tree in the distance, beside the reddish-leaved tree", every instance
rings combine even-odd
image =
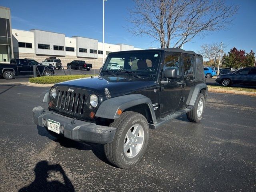
[[[226,45],[222,44],[222,56],[223,52],[226,49]],[[216,67],[217,60],[220,59],[220,50],[221,50],[221,44],[213,42],[211,44],[202,44],[201,50],[198,52],[204,57],[208,58],[210,61],[214,62],[214,67]]]

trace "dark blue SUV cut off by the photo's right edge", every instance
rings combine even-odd
[[[216,80],[222,86],[231,84],[256,84],[256,67],[246,67],[231,74],[221,74]]]

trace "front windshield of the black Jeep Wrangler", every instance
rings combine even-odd
[[[156,74],[160,52],[128,52],[110,54],[102,68],[104,71],[132,72],[142,75]]]

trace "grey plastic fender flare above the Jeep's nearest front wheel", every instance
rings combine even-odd
[[[148,105],[152,120],[156,122],[156,114],[150,98],[141,94],[130,94],[107,99],[100,104],[95,116],[106,119],[116,119],[120,117],[120,115],[117,114],[118,109],[124,111],[139,104]]]

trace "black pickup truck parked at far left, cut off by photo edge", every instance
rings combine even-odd
[[[45,68],[45,66],[32,59],[12,59],[10,64],[0,64],[0,76],[3,76],[5,79],[13,79],[17,75],[32,75],[33,65],[37,66],[38,75],[39,72],[43,76],[54,74],[52,66]]]

